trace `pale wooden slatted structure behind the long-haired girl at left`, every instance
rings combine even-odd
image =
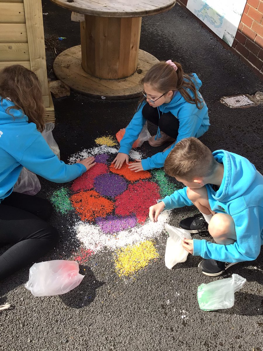
[[[54,118],[47,82],[41,0],[0,0],[0,69],[15,64],[38,76],[44,106],[49,109],[49,118]]]

